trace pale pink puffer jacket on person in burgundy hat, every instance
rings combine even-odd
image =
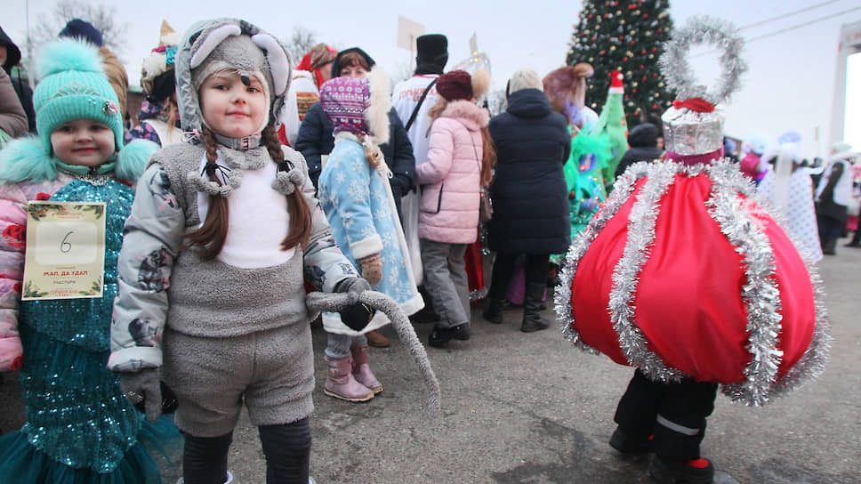
[[[431,125],[428,159],[415,166],[422,185],[419,238],[475,242],[479,227],[481,128],[488,116],[471,101],[452,101]]]

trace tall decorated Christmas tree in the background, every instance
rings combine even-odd
[[[584,0],[580,23],[571,36],[566,63],[589,62],[586,103],[599,110],[607,97],[609,74],[624,74],[624,111],[628,126],[660,125],[672,102],[657,60],[670,39],[672,20],[667,0]]]

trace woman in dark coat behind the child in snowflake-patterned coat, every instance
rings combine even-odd
[[[338,52],[332,62],[332,77],[365,77],[373,66],[374,60],[371,59],[371,56],[358,47],[353,47]],[[389,142],[380,145],[380,149],[382,149],[382,156],[385,157],[386,165],[389,165],[392,173],[389,179],[391,194],[395,198],[398,217],[403,220],[400,212],[400,198],[413,188],[415,158],[413,157],[413,145],[409,142],[404,124],[394,109],[389,111],[389,125]],[[315,189],[320,172],[323,170],[322,157],[331,153],[334,148],[332,130],[332,123],[326,118],[323,105],[319,102],[308,109],[308,113],[302,119],[302,125],[299,126],[296,149],[302,152],[302,156],[305,157],[305,163],[308,164],[308,174]]]

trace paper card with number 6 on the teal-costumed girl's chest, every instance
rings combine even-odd
[[[104,270],[104,202],[28,203],[21,300],[101,297]]]

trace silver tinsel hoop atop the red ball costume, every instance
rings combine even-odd
[[[722,72],[716,86],[707,89],[699,83],[688,61],[691,45],[710,44],[720,49]],[[738,90],[747,64],[741,59],[744,38],[726,20],[699,15],[688,20],[685,28],[675,30],[664,44],[659,64],[667,85],[680,100],[702,98],[712,104],[728,101]]]

